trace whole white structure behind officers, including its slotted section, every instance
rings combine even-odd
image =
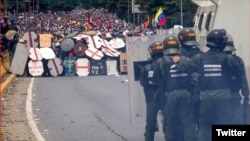
[[[197,9],[194,29],[197,33],[197,41],[205,45],[205,29],[207,14],[214,12],[211,29],[226,29],[233,36],[236,53],[242,57],[250,80],[250,0],[192,0],[200,8]],[[213,3],[216,2],[216,3]],[[218,7],[216,8],[216,5]],[[205,12],[203,26],[198,30],[199,16]],[[211,23],[212,23],[211,22]],[[211,30],[210,29],[210,30]],[[202,46],[203,50],[207,48]]]

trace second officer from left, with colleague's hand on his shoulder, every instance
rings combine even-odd
[[[194,141],[195,134],[192,119],[192,97],[188,91],[191,75],[180,71],[172,62],[171,57],[178,55],[182,61],[188,57],[181,56],[180,44],[176,36],[167,36],[163,40],[164,56],[156,63],[153,83],[164,86],[164,133],[167,141],[176,141],[183,138],[185,141]],[[181,127],[179,127],[181,126]],[[183,137],[179,137],[180,131]]]

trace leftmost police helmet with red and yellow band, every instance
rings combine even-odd
[[[161,41],[156,41],[153,42],[152,44],[149,45],[148,51],[151,55],[151,57],[155,55],[161,55],[163,54],[163,46]]]

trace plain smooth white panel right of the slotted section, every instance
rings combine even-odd
[[[225,28],[233,36],[236,53],[244,60],[250,80],[250,0],[222,0],[214,28]]]

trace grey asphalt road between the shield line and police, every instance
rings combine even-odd
[[[127,75],[35,78],[31,105],[39,140],[143,141],[145,120],[131,123],[126,80]],[[155,140],[164,140],[161,130]]]

